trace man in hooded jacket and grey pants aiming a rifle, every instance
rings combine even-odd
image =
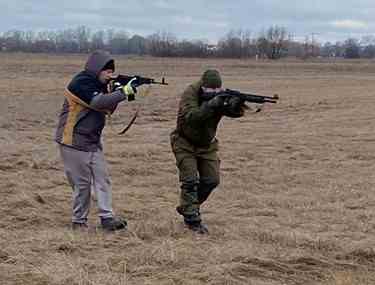
[[[83,71],[75,75],[65,90],[55,141],[59,144],[65,174],[73,188],[72,228],[87,228],[90,188],[97,197],[103,229],[124,229],[127,223],[112,210],[112,190],[103,155],[101,134],[106,114],[115,111],[121,101],[134,100],[136,89],[131,80],[116,91],[109,81],[115,62],[104,51],[92,53]]]

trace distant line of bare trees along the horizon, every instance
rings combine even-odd
[[[96,49],[113,54],[151,55],[158,57],[344,57],[374,58],[375,37],[320,44],[306,37],[295,41],[284,27],[271,26],[253,36],[249,31],[230,31],[217,44],[203,40],[178,40],[171,33],[158,32],[147,37],[129,36],[126,31],[92,31],[85,26],[60,31],[20,31],[0,33],[0,52],[89,53]]]

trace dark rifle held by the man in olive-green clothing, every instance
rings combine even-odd
[[[277,103],[279,100],[279,95],[275,94],[273,96],[261,96],[261,95],[254,95],[254,94],[246,94],[242,93],[237,90],[232,89],[225,89],[222,92],[210,92],[205,93],[204,98],[206,100],[210,100],[216,96],[224,97],[225,99],[230,97],[238,97],[242,102],[249,102],[249,103],[257,103],[257,104],[264,104],[264,103]]]

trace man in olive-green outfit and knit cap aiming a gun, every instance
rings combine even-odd
[[[245,108],[239,98],[205,96],[222,91],[219,72],[205,71],[182,94],[177,127],[171,133],[181,182],[180,205],[176,210],[189,229],[201,234],[208,233],[208,229],[202,224],[200,206],[220,182],[217,126],[223,116],[243,116]]]

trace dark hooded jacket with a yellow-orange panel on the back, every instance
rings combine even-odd
[[[126,99],[122,91],[108,93],[107,84],[99,81],[100,71],[113,59],[106,52],[97,51],[88,58],[85,69],[75,75],[67,90],[93,109],[114,110]],[[101,134],[105,126],[105,113],[64,100],[56,129],[55,141],[82,151],[102,148]]]

